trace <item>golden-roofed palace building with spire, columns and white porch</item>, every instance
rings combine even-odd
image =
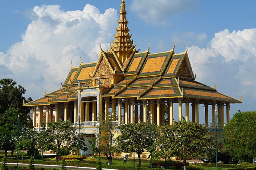
[[[219,123],[224,125],[224,118],[228,123],[230,104],[241,103],[241,100],[197,82],[188,47],[179,54],[174,53],[175,43],[170,51],[151,54],[149,45],[146,51],[139,52],[127,23],[122,0],[117,33],[109,50],[100,47],[96,63],[84,64],[80,60],[79,67],[71,64],[60,89],[45,92],[42,98],[24,104],[34,108],[34,117],[38,114],[38,121],[33,119],[36,130],[40,131],[43,123],[47,128],[48,122],[70,119],[76,123],[80,118],[81,133],[90,136],[98,132],[99,121],[111,114],[116,124],[144,121],[157,125],[174,123],[174,114],[178,114],[179,119],[185,117],[199,123],[200,115],[204,114],[208,127],[208,115],[214,117],[215,109]],[[199,107],[204,107],[203,113],[199,113]],[[43,110],[48,113],[45,122]]]

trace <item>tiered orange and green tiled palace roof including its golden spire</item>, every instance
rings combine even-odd
[[[110,51],[101,53],[97,63],[73,67],[62,84],[44,97],[24,106],[40,106],[77,100],[78,83],[82,89],[99,88],[100,79],[103,97],[149,99],[184,98],[204,102],[241,103],[239,100],[216,91],[195,80],[188,58],[188,47],[184,53],[175,54],[174,47],[170,51],[150,54],[150,47],[142,53],[132,45],[127,27],[124,0],[121,3],[120,20],[116,40]]]

